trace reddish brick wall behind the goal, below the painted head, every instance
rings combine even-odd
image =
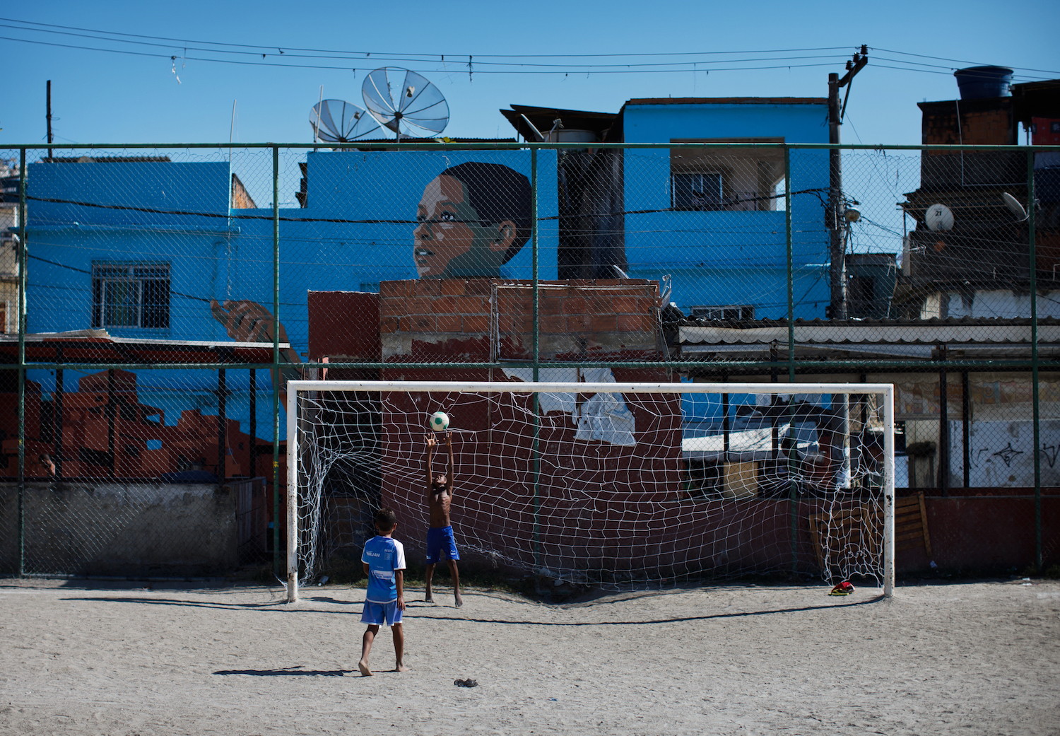
[[[570,280],[540,284],[543,361],[629,361],[658,356],[657,284],[647,280]],[[444,279],[379,284],[379,331],[389,380],[508,381],[499,369],[439,371],[409,364],[524,361],[532,356],[529,281]],[[573,374],[573,369],[570,369]],[[665,370],[614,368],[618,382],[662,382]],[[558,380],[554,376],[551,380]],[[575,379],[562,379],[575,380]],[[586,397],[587,398],[587,397]],[[572,525],[589,537],[656,544],[662,519],[647,511],[675,497],[682,417],[674,395],[625,395],[636,444],[576,440],[571,418],[549,415],[541,427],[535,494],[532,409],[526,395],[391,395],[383,407],[383,502],[402,520],[402,540],[418,556],[425,543],[423,435],[431,411],[454,428],[457,501],[453,521],[473,564],[533,560],[534,498],[545,565],[571,564],[561,553]],[[586,498],[594,498],[585,506]],[[477,550],[477,554],[476,554]],[[492,550],[492,551],[487,551]],[[636,565],[616,554],[606,564]]]

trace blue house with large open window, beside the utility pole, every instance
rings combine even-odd
[[[625,142],[827,143],[827,101],[631,100]],[[827,152],[793,153],[792,190],[827,190]],[[776,147],[625,152],[630,275],[673,277],[672,300],[708,318],[788,313],[783,154]],[[650,181],[653,186],[646,186]],[[795,316],[823,317],[828,232],[820,199],[792,197]],[[669,247],[669,246],[676,247]]]

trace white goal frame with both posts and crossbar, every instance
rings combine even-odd
[[[889,383],[575,383],[519,381],[288,381],[287,601],[298,600],[298,398],[311,392],[773,393],[883,397],[883,594],[895,585],[895,387]]]

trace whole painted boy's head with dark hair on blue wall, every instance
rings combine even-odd
[[[450,167],[423,190],[416,218],[419,277],[499,277],[530,238],[530,181],[499,163]]]

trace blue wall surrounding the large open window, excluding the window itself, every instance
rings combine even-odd
[[[626,142],[666,143],[688,138],[782,138],[828,142],[825,104],[658,104],[623,108]],[[720,152],[719,157],[724,153]],[[792,191],[795,316],[824,317],[828,303],[828,231],[820,190],[828,188],[828,154],[794,151]],[[624,154],[625,210],[671,206],[669,150]],[[783,206],[783,203],[778,203]],[[670,211],[625,215],[631,276],[673,278],[671,300],[693,305],[754,304],[757,318],[788,314],[785,213]]]

